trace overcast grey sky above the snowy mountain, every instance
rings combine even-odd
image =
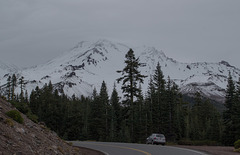
[[[240,68],[240,0],[0,0],[0,61],[29,67],[97,38]]]

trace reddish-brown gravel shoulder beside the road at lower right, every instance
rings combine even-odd
[[[234,152],[234,147],[227,146],[188,146],[188,145],[175,145],[175,147],[187,148],[205,152],[210,155],[240,155],[240,153]]]

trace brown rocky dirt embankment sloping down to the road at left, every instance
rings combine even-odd
[[[5,114],[13,109],[0,98],[0,155],[85,155],[91,152],[71,146],[46,126],[32,122],[23,114],[23,124],[14,121]]]

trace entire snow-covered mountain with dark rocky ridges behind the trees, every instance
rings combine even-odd
[[[107,83],[109,93],[111,93],[114,82],[121,76],[116,71],[122,70],[125,66],[125,54],[129,48],[126,45],[107,40],[80,42],[72,50],[46,64],[19,71],[17,77],[24,77],[28,92],[31,92],[36,86],[42,87],[51,81],[56,88],[63,90],[69,96],[73,94],[78,97],[81,95],[89,96],[94,87],[97,90],[100,89],[104,80]],[[204,96],[217,101],[224,99],[229,72],[234,80],[238,80],[240,77],[240,70],[225,61],[219,63],[181,63],[168,58],[162,51],[153,47],[143,46],[132,49],[136,57],[139,57],[140,62],[146,64],[140,68],[141,73],[148,76],[142,85],[143,91],[147,91],[150,75],[153,75],[158,62],[165,78],[170,76],[183,93],[191,95],[200,91]],[[4,68],[1,66],[4,65],[0,64],[0,68]],[[8,71],[10,73],[16,72]],[[4,75],[7,72],[0,70],[0,73],[0,84],[3,85],[6,83]],[[120,84],[117,84],[119,92],[121,92],[120,87]]]

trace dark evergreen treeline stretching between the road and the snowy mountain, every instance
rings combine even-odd
[[[66,140],[96,140],[145,143],[151,133],[163,133],[167,141],[208,141],[233,145],[240,135],[240,82],[229,75],[226,111],[220,113],[196,93],[192,105],[183,100],[178,86],[167,77],[158,63],[143,95],[141,83],[146,77],[139,71],[144,64],[130,49],[125,67],[117,71],[124,98],[120,100],[116,84],[111,91],[102,82],[91,97],[71,98],[59,93],[51,82],[31,92],[27,106],[39,122]],[[232,82],[232,84],[231,84]],[[21,102],[22,100],[18,99]]]

